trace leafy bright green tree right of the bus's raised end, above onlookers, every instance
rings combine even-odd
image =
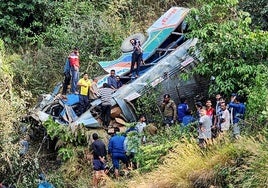
[[[199,38],[204,58],[196,73],[216,78],[210,93],[248,94],[256,66],[267,63],[268,34],[250,30],[249,14],[236,9],[237,1],[198,2],[204,4],[188,17],[188,37]]]

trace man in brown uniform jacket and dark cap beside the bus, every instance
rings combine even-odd
[[[169,94],[164,95],[164,100],[161,104],[161,111],[164,114],[164,124],[170,126],[177,119],[177,108],[175,102],[170,98]]]

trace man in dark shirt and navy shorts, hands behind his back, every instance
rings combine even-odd
[[[105,159],[107,155],[106,146],[99,139],[97,133],[93,133],[92,135],[93,143],[91,145],[92,153],[93,153],[93,186],[98,187],[98,183],[100,179],[104,176],[105,169]]]

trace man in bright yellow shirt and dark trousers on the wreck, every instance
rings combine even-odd
[[[89,105],[89,100],[88,100],[88,92],[91,86],[91,82],[88,79],[88,74],[84,73],[83,78],[81,78],[78,83],[78,86],[80,86],[80,92],[79,92],[79,115],[83,114]]]

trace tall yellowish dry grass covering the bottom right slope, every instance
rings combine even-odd
[[[146,175],[137,174],[127,187],[266,187],[267,130],[256,138],[221,140],[200,149],[194,139],[182,140],[164,164]]]

